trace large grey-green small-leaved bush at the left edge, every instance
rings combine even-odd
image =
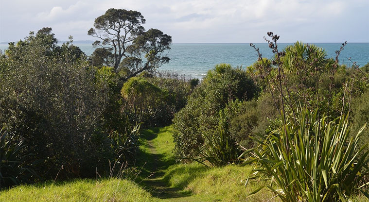
[[[6,51],[0,122],[9,141],[27,145],[24,155],[35,154],[27,156],[29,164],[43,161],[41,176],[56,176],[60,168],[61,176],[80,176],[107,97],[94,84],[95,70],[87,67],[84,54],[69,43],[56,46],[51,31],[31,33]]]

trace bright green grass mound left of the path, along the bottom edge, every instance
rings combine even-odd
[[[0,202],[155,202],[128,180],[74,180],[56,184],[20,185],[2,191]]]

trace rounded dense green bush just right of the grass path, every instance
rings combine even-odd
[[[186,107],[175,116],[177,157],[196,158],[204,145],[210,144],[210,148],[219,146],[216,142],[221,136],[225,137],[222,137],[223,140],[228,140],[230,120],[229,116],[226,120],[221,118],[221,111],[231,101],[251,100],[257,93],[257,86],[241,68],[226,64],[215,66],[201,85],[194,89]],[[229,139],[227,145],[237,147],[233,139]],[[231,161],[234,159],[222,160],[223,164]]]

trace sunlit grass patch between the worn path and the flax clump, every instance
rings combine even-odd
[[[267,190],[260,191],[257,195],[246,199],[248,193],[267,183],[263,179],[254,179],[249,180],[245,186],[251,171],[251,166],[228,165],[207,168],[198,163],[177,164],[168,168],[164,180],[171,187],[189,190],[194,196],[204,201],[268,201],[274,195]],[[277,198],[270,200],[270,202],[276,201],[279,200]]]

